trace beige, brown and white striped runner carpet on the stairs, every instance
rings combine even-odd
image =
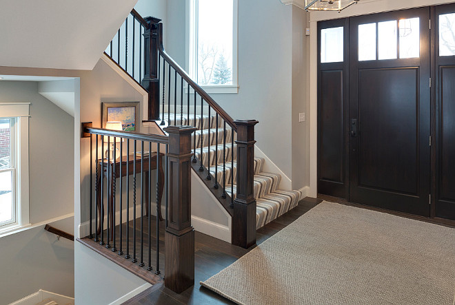
[[[165,114],[168,118],[168,114]],[[231,189],[234,190],[234,198],[236,196],[236,144],[232,146],[232,129],[226,124],[226,145],[223,150],[223,119],[219,118],[218,123],[218,143],[216,143],[216,116],[204,115],[201,120],[201,115],[190,114],[188,119],[187,114],[170,114],[172,125],[191,125],[199,130],[195,132],[196,149],[194,154],[198,158],[198,163],[202,160],[203,166],[208,168],[210,155],[210,173],[216,177],[220,187],[223,187],[223,153],[225,154],[225,190],[231,196]],[[202,130],[201,130],[202,125]],[[209,143],[210,134],[210,143]],[[235,140],[235,138],[234,138]],[[194,140],[193,140],[194,143]],[[218,149],[216,150],[216,147]],[[232,147],[234,148],[232,151]],[[216,151],[218,151],[218,170],[215,171]],[[233,154],[232,154],[233,153]],[[233,166],[232,155],[234,155]],[[278,173],[266,173],[263,171],[265,160],[263,158],[254,158],[254,198],[256,198],[256,229],[263,227],[265,224],[283,215],[290,209],[296,207],[301,197],[301,191],[291,191],[279,189],[281,175]],[[231,185],[231,175],[234,175],[234,183]]]

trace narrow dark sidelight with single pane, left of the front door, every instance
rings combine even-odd
[[[343,41],[348,40],[349,23],[338,19],[318,27],[318,193],[347,198],[348,43]],[[340,33],[342,41],[336,39]],[[342,54],[333,54],[337,52]]]

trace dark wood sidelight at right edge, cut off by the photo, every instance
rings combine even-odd
[[[455,4],[435,10],[435,215],[455,220]]]

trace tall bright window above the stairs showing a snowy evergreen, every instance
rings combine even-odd
[[[189,68],[201,86],[237,85],[237,1],[190,2]]]

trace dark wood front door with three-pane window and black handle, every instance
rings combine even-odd
[[[350,201],[429,216],[429,56],[429,8],[350,19]]]

